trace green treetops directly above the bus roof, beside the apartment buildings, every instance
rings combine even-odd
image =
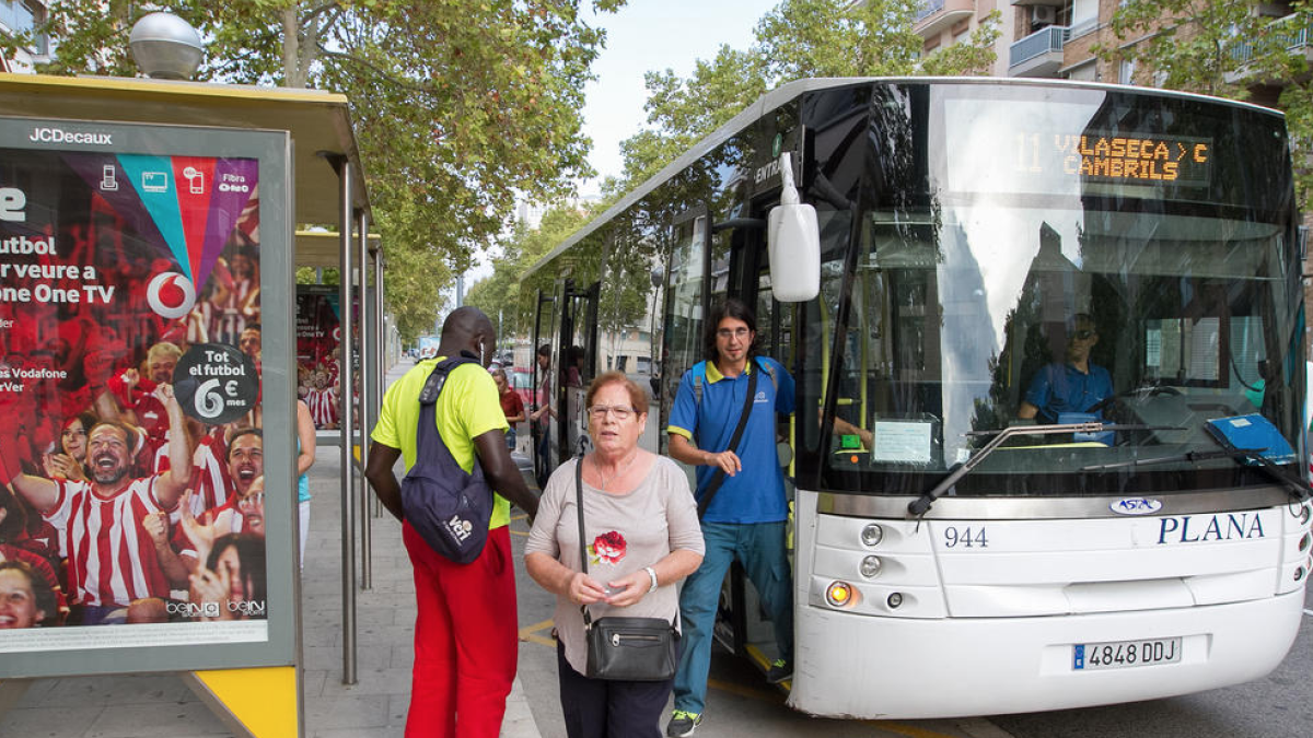
[[[621,142],[624,175],[604,183],[603,192],[617,196],[641,184],[768,89],[794,79],[989,72],[998,12],[968,41],[922,56],[924,39],[913,32],[916,7],[783,0],[758,22],[748,50],[722,46],[688,79],[671,70],[647,72],[649,127]]]

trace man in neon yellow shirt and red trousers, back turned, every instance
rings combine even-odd
[[[538,500],[506,448],[506,415],[496,383],[484,369],[495,345],[487,315],[475,307],[452,311],[442,323],[437,357],[420,361],[387,389],[372,433],[365,477],[383,507],[402,521],[402,538],[415,567],[415,668],[407,738],[496,738],[515,680],[519,633],[509,503],[532,519]],[[435,408],[437,431],[457,464],[471,471],[478,462],[498,491],[487,544],[467,565],[439,555],[406,523],[400,485],[393,473],[398,458],[406,469],[415,464],[419,394],[437,362],[449,356],[475,357],[483,366],[465,364],[448,376]]]

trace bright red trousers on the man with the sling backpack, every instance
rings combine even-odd
[[[519,657],[511,529],[488,532],[471,563],[452,563],[410,524],[415,670],[406,738],[498,738]]]

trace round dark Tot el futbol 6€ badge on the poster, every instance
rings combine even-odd
[[[231,423],[255,407],[260,378],[255,361],[227,344],[193,344],[173,369],[183,412],[210,425]]]

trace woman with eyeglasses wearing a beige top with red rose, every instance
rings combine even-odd
[[[647,738],[671,680],[590,679],[580,607],[591,619],[660,617],[676,622],[675,583],[702,561],[702,533],[688,478],[668,458],[638,448],[647,395],[621,372],[607,372],[584,395],[593,450],[562,464],[540,500],[525,546],[529,576],[557,595],[557,671],[570,738]],[[576,492],[575,469],[583,488]],[[586,550],[579,550],[582,495]],[[580,557],[588,557],[583,574]]]

